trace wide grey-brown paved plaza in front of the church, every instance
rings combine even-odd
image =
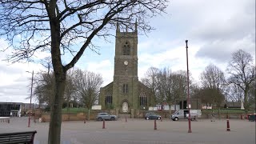
[[[35,144],[47,143],[49,122],[34,123],[27,127],[28,118],[10,118],[10,123],[0,123],[0,133],[37,130]],[[226,131],[226,119],[210,122],[199,119],[191,122],[192,133],[187,133],[187,120],[174,122],[170,119],[154,120],[118,119],[102,122],[62,122],[62,144],[254,144],[255,122],[230,119],[230,131]],[[0,142],[1,143],[1,142]]]

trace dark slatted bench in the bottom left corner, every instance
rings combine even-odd
[[[17,143],[17,144],[33,144],[34,143],[34,134],[37,131],[27,131],[27,132],[18,132],[18,133],[6,133],[0,134],[0,143],[1,144],[9,144],[9,143]]]

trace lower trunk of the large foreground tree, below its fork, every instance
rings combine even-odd
[[[48,144],[59,144],[62,127],[62,100],[66,85],[66,74],[55,74],[55,94],[50,108]]]

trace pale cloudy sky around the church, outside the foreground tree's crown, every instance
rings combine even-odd
[[[199,76],[209,64],[225,72],[231,54],[239,49],[250,53],[255,63],[254,0],[170,0],[166,14],[150,19],[150,25],[155,30],[138,35],[139,79],[150,66],[186,70],[186,39],[194,82],[200,82]],[[100,54],[87,49],[75,66],[102,74],[102,86],[112,82],[114,75],[114,38],[109,40],[99,42]],[[6,43],[0,38],[0,46]],[[31,72],[45,68],[40,63],[3,61],[10,52],[0,52],[0,102],[30,102]]]

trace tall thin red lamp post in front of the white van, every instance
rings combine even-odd
[[[186,100],[186,104],[187,104],[187,107],[189,109],[189,130],[188,130],[188,133],[192,133],[192,130],[191,130],[191,118],[190,118],[190,78],[189,78],[189,58],[188,58],[188,54],[187,54],[187,49],[188,49],[188,46],[187,46],[187,42],[189,42],[188,40],[185,41],[186,42],[186,81],[187,81],[187,100]]]

